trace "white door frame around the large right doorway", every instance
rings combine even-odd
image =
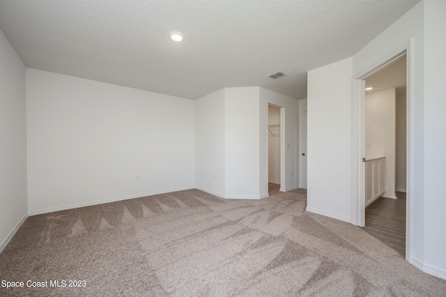
[[[365,100],[365,81],[367,77],[374,75],[385,66],[389,65],[399,57],[406,54],[406,103],[407,103],[407,118],[406,118],[406,259],[410,259],[410,234],[412,231],[411,216],[412,216],[412,197],[410,195],[410,147],[411,147],[411,83],[410,73],[411,68],[411,55],[410,55],[410,41],[396,48],[386,56],[383,56],[380,60],[371,64],[369,67],[363,69],[359,73],[353,76],[352,79],[352,224],[360,227],[364,227],[365,224],[365,172],[364,172],[364,142],[365,142],[365,115],[364,115],[364,100]]]

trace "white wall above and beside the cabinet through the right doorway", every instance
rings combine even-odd
[[[365,153],[385,153],[385,192],[396,198],[396,93],[395,88],[365,94]]]

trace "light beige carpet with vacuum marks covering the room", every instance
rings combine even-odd
[[[446,296],[445,280],[305,206],[302,190],[185,190],[36,215],[0,254],[0,281],[25,287],[0,296]]]

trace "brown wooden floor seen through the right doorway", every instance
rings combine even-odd
[[[379,197],[365,208],[365,231],[406,256],[406,193]]]

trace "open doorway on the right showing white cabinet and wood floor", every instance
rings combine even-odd
[[[365,79],[364,230],[406,254],[406,55]]]

